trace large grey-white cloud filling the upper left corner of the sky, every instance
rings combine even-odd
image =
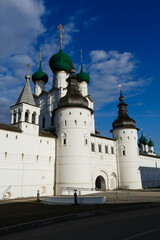
[[[44,12],[43,2],[39,0],[0,1],[0,58],[28,50],[45,31],[41,21]]]

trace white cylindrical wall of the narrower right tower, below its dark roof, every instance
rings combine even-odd
[[[117,139],[121,189],[142,188],[138,163],[137,129],[116,128],[113,137]]]

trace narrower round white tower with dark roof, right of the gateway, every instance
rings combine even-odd
[[[127,104],[120,89],[118,118],[113,122],[113,138],[117,140],[121,189],[142,188],[139,171],[136,122],[128,116]]]

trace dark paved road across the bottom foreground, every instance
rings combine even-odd
[[[160,207],[52,224],[0,237],[2,240],[160,239]]]

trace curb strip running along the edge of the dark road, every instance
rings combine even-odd
[[[117,212],[124,212],[129,210],[139,210],[139,209],[145,209],[145,208],[156,208],[159,207],[160,203],[147,203],[147,204],[140,204],[140,205],[134,205],[134,206],[127,206],[127,207],[115,207],[110,209],[101,209],[101,210],[94,210],[90,212],[81,212],[81,213],[73,213],[68,214],[64,216],[58,216],[58,217],[52,217],[52,218],[46,218],[46,219],[40,219],[35,220],[32,222],[12,225],[8,227],[0,228],[0,236],[5,235],[7,233],[27,230],[31,228],[41,227],[53,223],[59,223],[63,221],[70,221],[74,219],[80,219],[80,218],[86,218],[86,217],[92,217],[92,216],[98,216],[103,214],[112,214]]]

